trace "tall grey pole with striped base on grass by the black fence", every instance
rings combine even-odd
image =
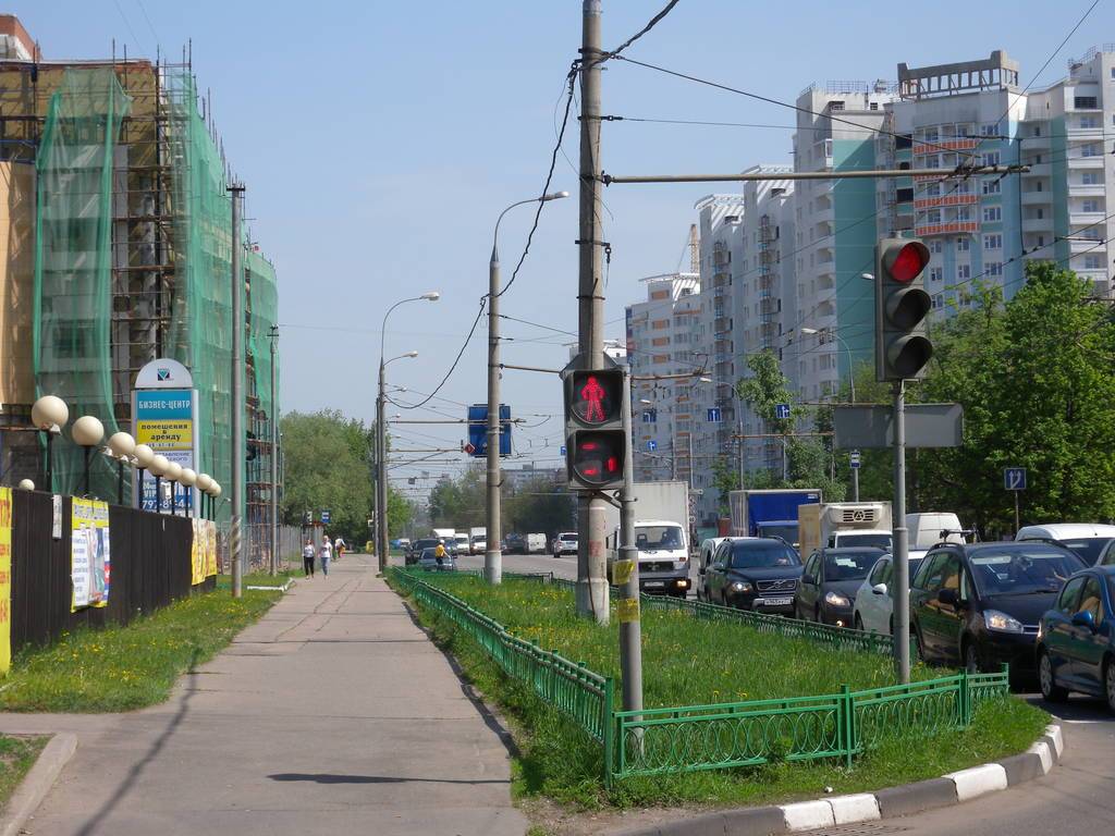
[[[232,514],[230,551],[232,552],[232,596],[243,591],[243,532],[241,511],[244,504],[244,278],[241,273],[240,210],[244,186],[233,183],[232,193]],[[172,511],[174,506],[171,506]]]

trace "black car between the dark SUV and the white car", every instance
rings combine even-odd
[[[855,593],[880,557],[881,548],[820,548],[805,561],[794,595],[794,614],[805,621],[851,626]]]

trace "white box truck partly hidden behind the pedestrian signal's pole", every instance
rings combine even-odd
[[[689,486],[683,482],[634,484],[634,545],[639,590],[685,597],[689,592]],[[608,577],[619,556],[620,513],[608,511]]]

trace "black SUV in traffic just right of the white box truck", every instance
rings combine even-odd
[[[789,615],[801,576],[802,561],[785,541],[729,537],[712,554],[705,595],[725,606]]]

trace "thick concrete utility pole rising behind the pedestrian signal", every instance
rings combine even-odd
[[[589,368],[604,364],[604,294],[602,230],[597,223],[600,182],[600,14],[601,0],[582,0],[581,26],[581,206],[578,281],[578,343]],[[604,537],[605,500],[576,500],[576,611],[608,623],[608,579]]]

